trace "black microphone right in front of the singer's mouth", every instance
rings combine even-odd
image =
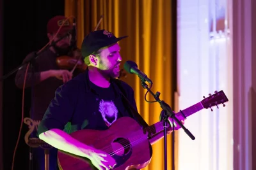
[[[147,75],[145,73],[143,73],[142,71],[140,71],[140,69],[138,69],[138,66],[135,62],[131,61],[131,60],[127,60],[124,64],[124,69],[125,71],[127,71],[128,73],[134,73],[137,76],[140,77],[140,79],[142,81],[147,81],[148,83],[152,84],[152,81],[147,77]]]

